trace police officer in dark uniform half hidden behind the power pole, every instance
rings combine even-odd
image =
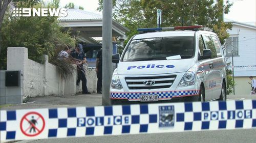
[[[97,73],[97,93],[102,94],[102,48],[97,53],[96,59],[96,73]]]

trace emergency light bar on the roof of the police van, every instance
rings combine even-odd
[[[175,26],[175,27],[159,27],[159,28],[138,28],[139,34],[157,31],[175,31],[175,30],[194,30],[197,31],[203,25],[193,25],[193,26]]]

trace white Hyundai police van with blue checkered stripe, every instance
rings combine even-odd
[[[143,34],[130,39],[121,58],[112,57],[119,63],[111,81],[112,104],[225,101],[227,79],[220,41],[215,33],[199,31],[200,27],[138,29]]]

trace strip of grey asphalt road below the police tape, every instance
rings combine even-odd
[[[119,135],[119,136],[97,136],[97,137],[74,137],[58,139],[38,139],[19,141],[19,143],[63,143],[63,142],[105,142],[105,143],[126,143],[126,142],[255,142],[256,129],[246,130],[222,130],[222,131],[197,131],[177,132],[159,134]]]

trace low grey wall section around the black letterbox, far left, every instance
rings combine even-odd
[[[5,72],[0,71],[0,104],[23,103],[23,76],[20,72],[19,87],[5,86]]]

